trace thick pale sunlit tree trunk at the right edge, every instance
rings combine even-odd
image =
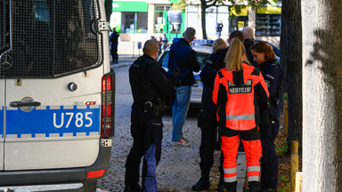
[[[303,0],[303,191],[342,191],[342,12]]]

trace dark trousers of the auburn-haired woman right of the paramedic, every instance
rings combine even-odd
[[[272,118],[268,129],[260,128],[260,139],[263,147],[261,157],[261,188],[277,188],[278,186],[278,156],[275,151],[274,140],[279,132],[279,121]]]

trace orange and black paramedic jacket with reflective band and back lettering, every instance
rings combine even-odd
[[[246,63],[242,67],[239,71],[222,68],[216,74],[213,91],[219,124],[236,131],[256,127],[259,107],[266,108],[269,97],[261,72]]]

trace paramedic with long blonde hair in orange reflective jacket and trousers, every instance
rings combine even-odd
[[[249,191],[259,191],[262,148],[258,124],[268,123],[259,122],[259,111],[266,110],[268,91],[260,71],[243,60],[246,60],[245,47],[234,38],[224,58],[225,68],[217,73],[214,84],[213,101],[218,106],[224,154],[224,179],[220,180],[217,191],[236,192],[239,140],[247,159]]]

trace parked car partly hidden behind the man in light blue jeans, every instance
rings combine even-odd
[[[193,45],[192,49],[197,52],[197,60],[199,60],[200,69],[199,69],[199,72],[193,72],[193,75],[196,80],[196,84],[192,85],[190,102],[195,103],[195,104],[200,104],[202,100],[203,83],[200,81],[199,73],[204,67],[204,65],[206,64],[208,57],[212,53],[212,48],[211,46],[207,46],[207,45]],[[170,49],[167,48],[167,50],[165,50],[165,52],[163,52],[158,58],[159,63],[166,70],[167,70],[167,64],[168,64],[168,52],[169,51]]]

